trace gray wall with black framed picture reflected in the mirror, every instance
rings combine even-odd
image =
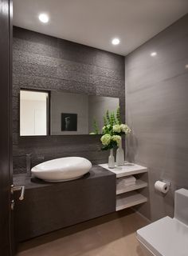
[[[57,91],[51,92],[50,99],[52,135],[96,133],[94,122],[100,134],[106,111],[116,112],[119,106],[119,98]]]

